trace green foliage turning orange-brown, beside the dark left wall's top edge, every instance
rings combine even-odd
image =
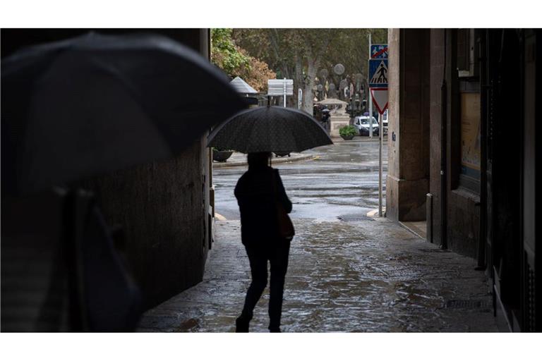
[[[230,78],[239,76],[258,92],[267,88],[267,79],[275,79],[265,61],[260,61],[237,46],[231,38],[231,29],[211,30],[211,62],[221,68]]]

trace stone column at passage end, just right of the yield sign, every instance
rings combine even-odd
[[[429,30],[390,29],[386,215],[426,219],[429,190]]]

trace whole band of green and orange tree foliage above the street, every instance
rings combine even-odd
[[[356,78],[354,91],[366,91],[369,34],[373,44],[387,42],[385,29],[212,29],[211,60],[258,91],[265,91],[267,79],[293,79],[294,89],[303,90],[303,109],[312,113],[318,85],[335,97],[333,87],[342,90]],[[333,72],[338,63],[342,75]],[[289,102],[297,100],[294,91]]]

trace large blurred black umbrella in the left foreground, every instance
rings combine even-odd
[[[226,75],[166,37],[91,33],[19,51],[1,61],[2,191],[171,157],[244,107]]]

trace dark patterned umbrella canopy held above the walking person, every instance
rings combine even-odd
[[[251,152],[302,152],[333,144],[318,121],[304,111],[260,106],[241,111],[207,137],[208,147]]]

